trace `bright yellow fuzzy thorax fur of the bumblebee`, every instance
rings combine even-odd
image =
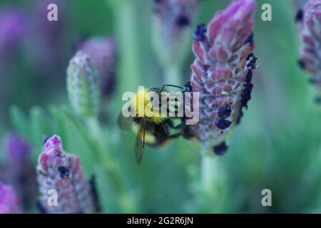
[[[133,98],[133,108],[137,117],[150,118],[154,123],[161,123],[165,118],[161,117],[161,110],[153,110],[151,101],[152,92],[146,89],[139,89]]]

